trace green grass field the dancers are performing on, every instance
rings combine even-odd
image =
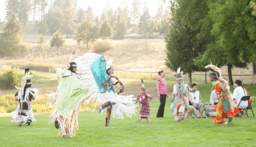
[[[124,95],[139,94],[140,80],[120,79],[125,86]],[[171,96],[175,81],[167,81],[168,93]],[[196,82],[198,90],[203,98],[203,103],[209,102],[211,83]],[[134,122],[139,115],[140,107],[132,118],[124,117],[124,120],[111,117],[109,127],[104,127],[105,113],[80,111],[79,130],[75,138],[57,137],[54,125],[48,125],[49,113],[36,114],[37,121],[30,126],[16,126],[11,122],[11,116],[0,117],[1,146],[180,146],[180,147],[215,147],[215,146],[256,146],[256,119],[249,114],[249,118],[234,118],[228,125],[216,125],[209,118],[186,118],[183,122],[176,122],[170,115],[170,99],[166,100],[163,118],[156,118],[160,105],[156,98],[155,80],[144,80],[147,93],[153,96],[150,102],[151,122],[142,119],[142,122]],[[39,88],[46,85],[53,89],[57,86],[57,80],[44,75],[35,75],[33,86]],[[32,87],[33,87],[32,86]],[[250,96],[256,96],[255,86],[245,86]],[[15,90],[10,90],[11,94]],[[233,92],[233,88],[231,87]],[[252,108],[256,112],[256,102],[252,102]],[[251,112],[251,110],[249,110]],[[203,115],[205,112],[203,112]],[[125,114],[124,114],[125,115]]]

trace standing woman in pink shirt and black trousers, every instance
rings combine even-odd
[[[160,77],[156,80],[156,88],[157,88],[157,97],[160,99],[160,106],[157,111],[156,117],[164,117],[164,106],[166,97],[168,99],[168,93],[166,89],[166,80],[165,80],[165,71],[161,70],[158,72]]]

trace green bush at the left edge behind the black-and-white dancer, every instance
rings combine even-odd
[[[20,86],[18,73],[15,70],[7,70],[4,73],[0,73],[0,88],[1,89],[13,89],[14,86]]]

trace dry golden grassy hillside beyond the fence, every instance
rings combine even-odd
[[[73,50],[76,50],[73,59],[77,56],[83,55],[86,52],[94,52],[91,49],[86,49],[86,45],[77,44],[72,38],[65,38],[66,43],[64,47],[58,49],[59,56],[56,55],[56,47],[50,47],[50,39],[52,35],[46,35],[46,43],[44,45],[45,53],[37,44],[37,38],[39,34],[37,29],[34,27],[35,22],[26,22],[23,24],[24,31],[24,42],[28,48],[24,57],[17,57],[16,59],[0,59],[0,64],[17,64],[24,63],[27,61],[34,61],[39,63],[51,63],[55,66],[67,65],[70,54]],[[2,24],[0,24],[0,30],[2,30]],[[130,29],[131,30],[131,29]],[[128,36],[133,36],[134,34],[129,34]],[[142,38],[142,37],[137,37]],[[157,38],[163,38],[157,37]],[[100,40],[100,39],[98,39]],[[158,72],[160,70],[165,70],[167,73],[172,73],[170,69],[165,65],[165,49],[166,44],[164,39],[124,39],[124,40],[107,40],[111,42],[112,49],[104,53],[99,53],[104,55],[108,60],[114,59],[112,66],[119,70],[131,70],[131,71],[143,71],[143,72]],[[92,43],[89,44],[89,46]],[[33,54],[32,54],[33,52]],[[3,67],[0,67],[0,69]],[[222,74],[227,75],[227,67],[221,67]],[[249,69],[238,69],[234,68],[232,70],[233,75],[240,74],[252,74],[252,65],[249,64]],[[205,74],[204,72],[196,72],[195,74]],[[157,74],[154,74],[157,76]],[[167,74],[167,76],[172,76]],[[204,76],[192,75],[193,78],[204,80]],[[186,78],[186,77],[185,77]],[[227,78],[227,76],[224,76]],[[233,80],[240,78],[244,83],[250,83],[251,78],[248,76],[233,76]],[[201,80],[201,81],[202,81]]]

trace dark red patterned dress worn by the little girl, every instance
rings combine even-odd
[[[149,104],[147,104],[148,99],[152,100],[152,96],[149,94],[138,95],[137,97],[136,102],[140,102],[142,104],[139,115],[141,118],[150,117],[150,108]]]

